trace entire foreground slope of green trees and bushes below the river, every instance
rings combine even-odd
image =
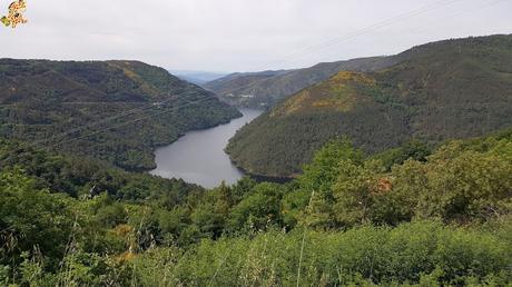
[[[0,141],[0,285],[506,286],[512,130],[205,190]]]

